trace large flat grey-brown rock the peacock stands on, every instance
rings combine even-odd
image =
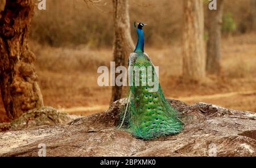
[[[182,114],[184,131],[155,140],[117,130],[125,100],[109,110],[68,124],[0,133],[0,156],[256,156],[256,114],[205,104],[170,104]]]

